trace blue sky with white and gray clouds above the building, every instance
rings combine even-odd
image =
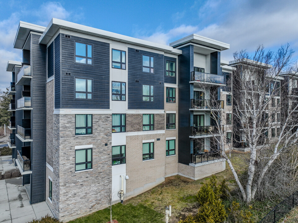
[[[229,43],[221,59],[239,50],[254,52],[263,44],[276,51],[287,43],[298,59],[298,1],[17,1],[0,0],[0,89],[10,85],[8,60],[22,61],[13,49],[20,20],[47,26],[51,19],[107,30],[168,45],[196,33]]]

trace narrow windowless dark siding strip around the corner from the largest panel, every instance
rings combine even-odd
[[[55,108],[60,108],[60,36],[54,40],[55,47]]]

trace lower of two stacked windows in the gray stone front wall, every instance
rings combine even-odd
[[[75,171],[92,169],[92,149],[76,150],[76,168]]]

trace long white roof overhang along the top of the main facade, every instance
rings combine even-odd
[[[68,21],[60,20],[56,18],[52,18],[51,22],[48,24],[47,28],[42,33],[42,36],[39,38],[39,43],[47,44],[52,39],[52,37],[54,37],[54,35],[58,32],[59,29],[69,30],[77,33],[84,33],[87,35],[92,35],[92,36],[101,37],[101,38],[119,41],[119,42],[125,42],[128,44],[147,47],[155,50],[161,50],[170,54],[175,54],[175,55],[182,54],[181,50],[174,49],[171,46],[149,42],[149,41],[137,39],[134,37],[128,37],[118,33],[112,33],[109,31],[92,28],[89,26],[80,25],[80,24],[76,24],[76,23],[72,23],[72,22],[68,22]]]

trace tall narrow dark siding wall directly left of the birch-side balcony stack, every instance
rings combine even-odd
[[[179,48],[182,55],[178,56],[178,89],[179,89],[179,141],[178,162],[189,164],[190,161],[190,72],[193,71],[193,45]]]

